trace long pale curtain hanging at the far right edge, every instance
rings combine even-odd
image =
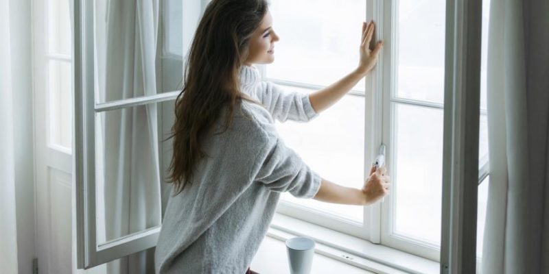
[[[549,2],[491,1],[483,273],[549,273]]]

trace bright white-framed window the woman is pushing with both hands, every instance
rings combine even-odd
[[[365,208],[284,194],[279,212],[439,260],[445,1],[314,2],[271,3],[281,40],[275,45],[274,64],[261,69],[264,79],[299,92],[335,82],[358,64],[360,24],[366,18],[376,21],[377,38],[385,47],[371,75],[336,105],[307,124],[277,123],[279,132],[321,176],[355,188],[364,184],[383,143],[393,188],[381,206]],[[484,1],[483,21],[488,7],[489,1]],[[486,34],[484,27],[484,41]],[[486,47],[482,56],[486,58]],[[488,181],[484,69],[482,83],[480,182]],[[479,218],[485,201],[481,190]],[[479,219],[479,227],[482,223]]]

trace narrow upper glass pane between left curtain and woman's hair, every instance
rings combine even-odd
[[[163,17],[162,92],[183,89],[183,1],[166,0]]]

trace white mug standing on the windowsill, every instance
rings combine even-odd
[[[309,274],[311,272],[314,246],[314,240],[307,237],[294,237],[286,240],[291,274]]]

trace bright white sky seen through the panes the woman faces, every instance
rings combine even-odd
[[[288,3],[286,3],[288,2]],[[326,86],[355,67],[353,25],[366,21],[366,1],[277,1],[270,10],[281,36],[276,60],[266,66],[274,81]],[[395,85],[390,101],[393,234],[440,245],[445,58],[445,2],[395,1]],[[487,20],[487,9],[484,12]],[[296,25],[299,25],[297,31]],[[349,26],[349,27],[347,27]],[[358,28],[358,27],[357,27]],[[485,36],[485,32],[483,32]],[[483,58],[485,49],[483,47]],[[339,56],[339,58],[335,58]],[[487,160],[485,70],[480,117],[481,164]],[[299,90],[297,88],[290,88]],[[364,91],[364,81],[355,90]],[[310,92],[311,90],[303,90]],[[320,175],[338,184],[364,182],[364,97],[348,95],[316,121],[277,123],[290,147]],[[286,201],[362,221],[362,208],[295,199]]]

